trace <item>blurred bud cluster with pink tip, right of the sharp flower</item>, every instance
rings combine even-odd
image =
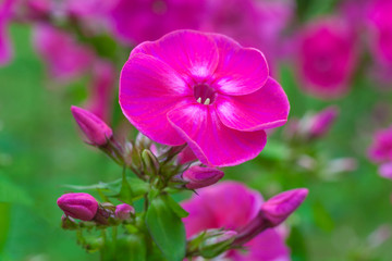
[[[285,129],[286,137],[307,141],[323,137],[339,115],[336,107],[328,107],[318,113],[308,113],[301,120],[292,120]]]

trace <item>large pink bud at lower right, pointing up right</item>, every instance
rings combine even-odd
[[[305,200],[308,189],[297,188],[279,194],[261,206],[261,212],[272,226],[285,221]]]

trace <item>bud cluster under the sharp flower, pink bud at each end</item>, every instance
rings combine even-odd
[[[71,112],[86,136],[87,142],[93,145],[120,165],[128,166],[142,179],[156,178],[159,186],[161,178],[164,184],[176,188],[197,189],[210,186],[221,179],[224,173],[215,167],[177,164],[168,166],[182,152],[184,146],[158,147],[148,137],[138,134],[135,141],[120,142],[113,136],[113,130],[94,113],[77,107],[71,107]]]

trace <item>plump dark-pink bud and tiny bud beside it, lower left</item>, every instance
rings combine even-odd
[[[78,227],[74,219],[95,222],[98,225],[109,225],[127,221],[135,213],[134,208],[130,204],[123,203],[117,207],[111,203],[99,204],[91,195],[84,192],[64,194],[57,203],[64,212],[63,228]]]

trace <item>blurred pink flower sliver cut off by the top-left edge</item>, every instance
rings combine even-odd
[[[13,48],[8,35],[8,24],[12,17],[15,0],[4,0],[0,3],[0,66],[9,63],[13,55]]]

